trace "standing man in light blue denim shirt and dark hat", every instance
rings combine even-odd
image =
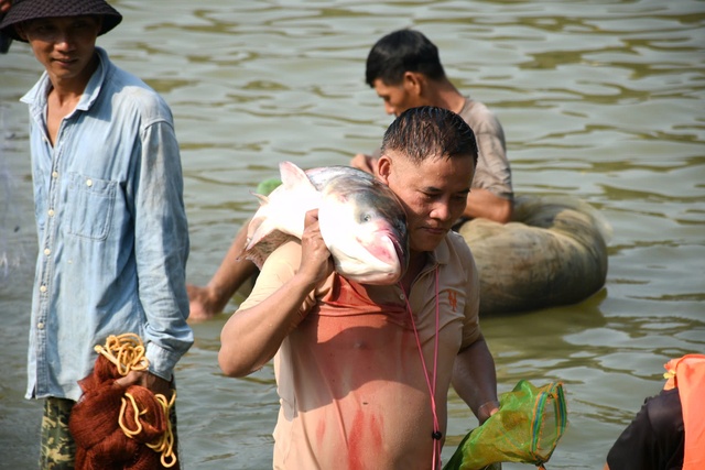
[[[22,98],[40,243],[26,397],[47,398],[44,468],[73,468],[65,422],[82,395],[77,381],[91,372],[94,346],[139,335],[149,371],[118,382],[170,396],[174,367],[193,343],[172,114],[95,45],[121,19],[104,0],[15,0],[0,23],[45,67]]]

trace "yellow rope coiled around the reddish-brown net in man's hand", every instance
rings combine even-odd
[[[118,336],[110,335],[106,340],[106,345],[97,345],[95,350],[112,362],[118,369],[118,373],[122,376],[130,373],[130,371],[145,371],[150,364],[150,361],[144,357],[145,349],[142,343],[142,339],[132,332],[126,332]],[[166,430],[161,435],[156,442],[147,444],[147,447],[158,453],[161,453],[162,466],[171,468],[176,463],[176,455],[174,453],[174,431],[169,416],[172,407],[174,406],[174,402],[176,401],[176,391],[173,391],[171,400],[166,400],[166,396],[161,393],[154,394],[154,397],[162,406],[162,412],[164,413],[166,420]],[[132,411],[134,413],[134,422],[137,424],[135,429],[130,429],[124,424],[124,413],[128,405],[132,406]],[[127,437],[133,439],[133,436],[137,436],[142,431],[140,416],[145,413],[147,409],[139,408],[134,401],[134,396],[132,396],[131,393],[126,392],[124,397],[122,397],[122,406],[120,407],[118,424]]]

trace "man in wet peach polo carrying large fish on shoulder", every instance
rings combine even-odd
[[[267,258],[223,329],[218,361],[245,376],[274,358],[274,468],[441,468],[451,382],[480,423],[497,411],[477,270],[451,231],[476,162],[475,135],[451,111],[412,108],[389,127],[379,179],[409,234],[409,266],[394,284],[335,272],[321,210],[305,214],[301,240]]]

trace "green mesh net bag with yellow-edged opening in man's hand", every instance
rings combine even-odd
[[[500,395],[499,412],[465,436],[443,470],[499,468],[492,466],[497,462],[543,468],[566,426],[562,383],[535,387],[519,381],[514,390]]]

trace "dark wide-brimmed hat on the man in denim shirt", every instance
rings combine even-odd
[[[13,0],[12,7],[0,22],[0,31],[14,40],[24,41],[14,29],[15,24],[23,21],[93,15],[102,17],[98,35],[107,33],[122,21],[122,15],[105,0]]]

